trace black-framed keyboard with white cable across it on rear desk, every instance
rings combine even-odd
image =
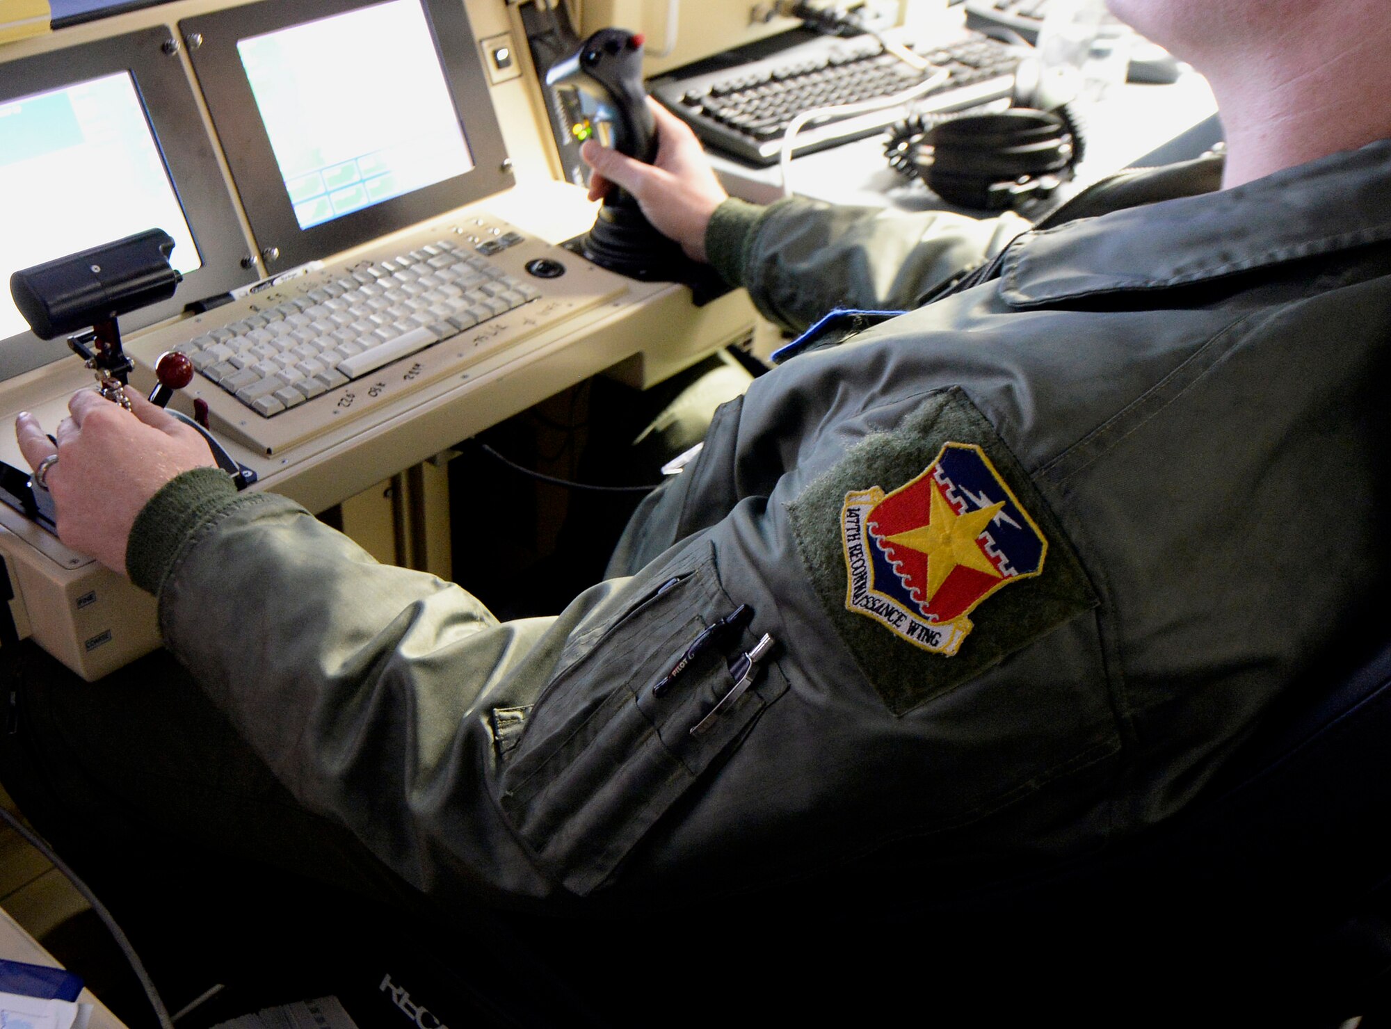
[[[886,53],[874,36],[818,36],[736,67],[677,74],[648,83],[701,142],[757,165],[778,160],[783,132],[800,113],[911,89],[939,70],[949,78],[914,102],[919,111],[956,111],[1010,96],[1020,50],[961,31],[931,43],[900,40],[929,63],[926,71]],[[874,135],[904,117],[901,106],[818,121],[798,132],[793,154]]]

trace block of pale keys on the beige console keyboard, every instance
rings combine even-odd
[[[499,243],[522,242],[516,232]],[[262,417],[537,299],[541,291],[449,239],[339,278],[174,349]]]

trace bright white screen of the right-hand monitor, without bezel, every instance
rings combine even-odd
[[[236,50],[300,228],[473,168],[419,0],[252,36]],[[363,68],[391,88],[364,89]]]

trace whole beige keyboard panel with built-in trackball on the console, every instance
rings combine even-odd
[[[188,353],[199,374],[174,403],[202,400],[216,434],[278,455],[409,414],[419,391],[505,367],[626,292],[620,275],[474,210],[139,334],[127,352],[146,375],[164,350]]]

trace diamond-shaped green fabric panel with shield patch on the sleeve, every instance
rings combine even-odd
[[[837,633],[894,713],[1096,606],[1042,495],[960,389],[851,448],[790,513]]]

